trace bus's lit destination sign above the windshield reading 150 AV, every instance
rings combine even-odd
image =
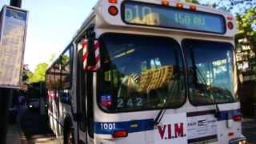
[[[122,19],[128,24],[224,34],[225,19],[219,14],[178,9],[142,2],[124,2]]]

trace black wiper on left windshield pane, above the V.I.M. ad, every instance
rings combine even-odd
[[[172,98],[174,98],[174,94],[176,94],[175,93],[175,86],[178,86],[178,89],[176,90],[176,91],[178,91],[179,90],[179,86],[180,86],[180,81],[181,81],[181,79],[180,79],[180,76],[178,76],[178,80],[175,80],[176,78],[174,78],[174,82],[173,82],[173,84],[172,84],[172,86],[171,86],[171,88],[170,88],[170,90],[171,90],[171,92],[170,92],[170,97],[167,99],[167,101],[165,102],[165,104],[162,106],[162,109],[158,112],[158,116],[154,119],[154,126],[157,126],[160,122],[161,122],[161,120],[162,120],[162,117],[163,117],[163,115],[166,113],[166,105],[169,103],[169,102],[171,102],[172,101]]]

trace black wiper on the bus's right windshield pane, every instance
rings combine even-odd
[[[194,51],[192,50],[192,49],[190,49],[190,54],[191,54],[191,59],[192,59],[192,66],[193,66],[193,70],[194,70],[194,77],[196,77],[197,78],[197,72],[198,72],[198,76],[199,76],[199,78],[201,78],[202,79],[202,82],[203,82],[203,86],[204,86],[204,91],[206,91],[206,93],[209,95],[209,97],[211,98],[211,95],[213,96],[213,103],[214,103],[214,106],[215,106],[215,117],[218,117],[218,115],[219,115],[219,108],[218,108],[218,103],[216,102],[216,98],[215,98],[215,95],[214,95],[214,93],[213,93],[213,90],[212,90],[212,88],[211,88],[211,86],[209,86],[209,89],[207,89],[207,82],[206,82],[206,79],[205,78],[203,78],[203,76],[202,76],[202,73],[201,73],[201,71],[198,69],[198,67],[196,66],[196,64],[195,64],[195,60],[194,60]],[[198,81],[197,79],[196,79],[196,81]]]

